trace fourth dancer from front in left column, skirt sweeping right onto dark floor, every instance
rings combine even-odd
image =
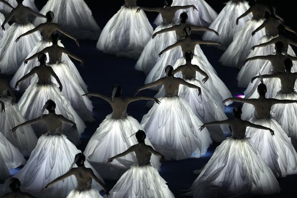
[[[83,120],[92,122],[95,120],[92,115],[93,104],[90,99],[82,97],[82,95],[86,93],[84,86],[81,86],[81,82],[83,82],[83,80],[72,61],[68,58],[69,61],[65,59],[67,62],[64,63],[62,62],[62,57],[69,55],[70,57],[80,61],[81,66],[83,66],[84,61],[67,49],[58,46],[58,39],[59,37],[57,34],[52,34],[52,46],[47,47],[27,58],[24,63],[36,59],[41,53],[48,53],[49,66],[52,67],[53,71],[61,80],[61,84],[63,85],[63,95],[70,101],[72,107],[78,112]],[[35,78],[31,81],[35,83],[37,79]],[[56,84],[58,82],[53,81],[53,83]]]

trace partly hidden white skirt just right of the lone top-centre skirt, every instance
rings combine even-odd
[[[174,24],[161,24],[154,30],[154,33],[165,28],[170,28],[173,25]],[[168,46],[175,44],[176,41],[177,39],[174,31],[158,34],[154,39],[151,38],[142,51],[139,60],[135,65],[135,69],[143,71],[147,75],[155,65],[158,59],[158,54]]]

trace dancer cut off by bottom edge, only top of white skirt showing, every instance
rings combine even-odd
[[[103,198],[96,189],[92,188],[92,180],[95,180],[108,196],[109,193],[106,190],[106,187],[94,174],[93,170],[85,166],[85,161],[86,156],[83,153],[76,154],[73,165],[76,164],[77,168],[73,168],[72,165],[67,173],[51,181],[46,185],[43,191],[48,190],[53,184],[63,181],[73,175],[76,178],[77,187],[70,192],[67,198]]]

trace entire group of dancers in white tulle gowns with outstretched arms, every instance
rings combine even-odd
[[[297,174],[297,57],[290,47],[297,43],[284,36],[296,32],[260,0],[230,0],[219,14],[204,0],[157,8],[136,2],[125,0],[101,32],[83,0],[49,0],[40,12],[34,0],[0,0],[0,196],[100,198],[103,190],[111,198],[174,198],[158,173],[163,160],[199,158],[212,142],[220,146],[185,196],[279,193],[277,178]],[[145,11],[159,13],[154,31]],[[89,93],[69,57],[84,61],[59,35],[78,46],[78,39],[98,40],[105,53],[137,59],[145,85],[133,97],[122,97],[120,85],[111,96]],[[245,99],[232,98],[199,45],[225,50],[220,61],[240,69]],[[8,82],[2,74],[14,76]],[[22,94],[17,103],[13,88]],[[158,93],[138,96],[146,89]],[[89,97],[112,112],[82,153],[75,145],[85,122],[95,120]],[[137,100],[150,107],[141,123],[127,114]],[[244,105],[228,119],[232,102]],[[117,183],[108,191],[103,179]]]

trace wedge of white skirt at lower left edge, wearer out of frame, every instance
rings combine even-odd
[[[9,169],[25,163],[22,153],[0,133],[0,180],[10,177]]]

